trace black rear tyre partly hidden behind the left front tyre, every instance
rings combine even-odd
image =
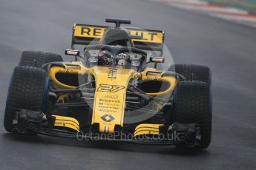
[[[43,64],[55,61],[63,61],[62,56],[50,52],[24,51],[19,61],[19,66],[31,66],[41,68]]]

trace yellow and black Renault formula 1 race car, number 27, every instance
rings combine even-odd
[[[74,24],[74,61],[24,51],[7,94],[4,128],[26,135],[116,140],[206,149],[211,143],[211,71],[163,64],[165,33]],[[83,45],[84,50],[74,50]],[[149,53],[158,52],[158,55]]]

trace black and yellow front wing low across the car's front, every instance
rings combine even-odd
[[[69,137],[78,140],[112,140],[131,143],[152,145],[175,145],[183,143],[188,147],[199,145],[200,127],[196,124],[173,123],[172,125],[141,123],[134,131],[114,132],[113,134],[82,132],[79,122],[75,118],[44,115],[42,112],[34,112],[20,109],[16,112],[17,123],[13,132],[36,132],[42,135],[54,137]]]

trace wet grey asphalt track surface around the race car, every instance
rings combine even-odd
[[[20,138],[4,131],[8,79],[22,51],[63,55],[74,22],[104,25],[105,18],[165,30],[176,63],[211,67],[209,149]],[[255,28],[147,0],[1,0],[0,23],[0,169],[256,169]]]

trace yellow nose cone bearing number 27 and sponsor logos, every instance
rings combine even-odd
[[[99,132],[113,133],[116,125],[123,125],[126,90],[134,77],[133,69],[94,67],[96,92],[93,103],[93,123],[99,123]]]

